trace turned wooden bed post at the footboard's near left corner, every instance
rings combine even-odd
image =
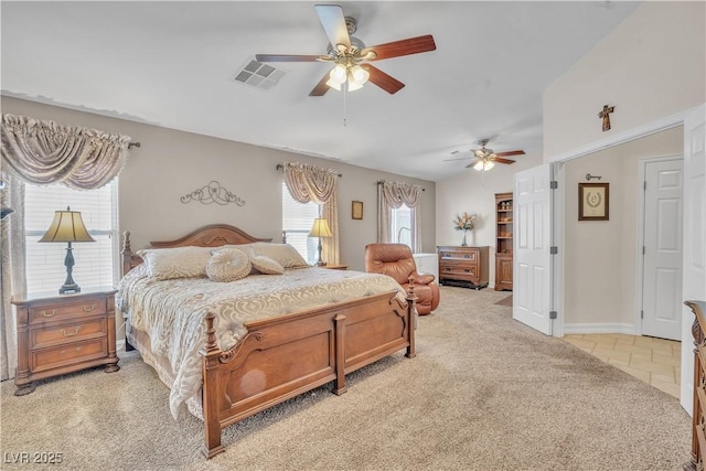
[[[206,314],[206,344],[201,349],[203,360],[201,370],[203,374],[203,454],[211,459],[225,451],[221,443],[221,420],[218,418],[218,355],[221,350],[216,345],[216,330],[213,321],[216,317],[213,312]]]

